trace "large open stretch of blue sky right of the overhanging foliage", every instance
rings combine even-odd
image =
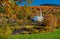
[[[60,0],[34,0],[31,5],[39,6],[41,4],[58,4],[58,5],[60,5]]]

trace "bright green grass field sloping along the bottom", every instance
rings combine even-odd
[[[60,29],[56,29],[54,32],[40,34],[11,35],[0,37],[0,39],[60,39]]]

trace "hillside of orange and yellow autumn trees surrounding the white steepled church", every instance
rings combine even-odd
[[[33,18],[35,15],[39,15],[40,10],[42,10],[43,16],[46,18],[43,21],[46,23],[43,27],[39,26],[38,23],[34,24],[28,19],[28,17]],[[53,20],[53,22],[51,22],[51,20]],[[53,29],[60,27],[59,6],[19,7],[7,3],[6,6],[0,7],[0,35],[33,34],[42,31],[50,32],[52,31],[51,24],[53,24]]]

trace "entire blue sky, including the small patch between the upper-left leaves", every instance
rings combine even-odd
[[[19,4],[17,2],[18,6],[24,6],[25,2],[22,2]],[[40,6],[41,4],[58,4],[60,5],[60,0],[34,0],[31,4],[28,4],[28,6]]]

